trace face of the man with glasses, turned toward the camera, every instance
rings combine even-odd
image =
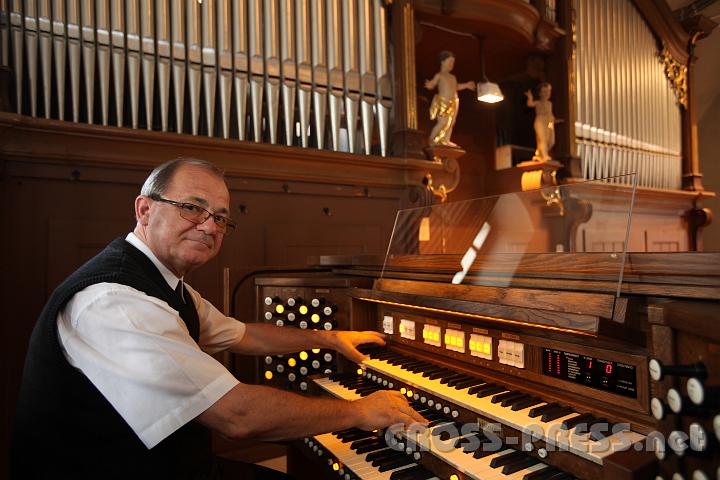
[[[194,203],[211,213],[228,215],[230,194],[225,182],[210,172],[193,166],[176,170],[163,198]],[[143,200],[145,199],[145,200]],[[140,197],[139,209],[147,202],[138,227],[158,259],[177,276],[207,263],[220,250],[223,233],[212,217],[196,225],[180,216],[180,209],[168,203]]]

